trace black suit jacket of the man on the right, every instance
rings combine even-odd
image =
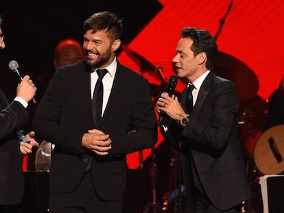
[[[182,92],[185,109],[187,88]],[[186,127],[172,125],[172,134],[181,141],[182,168],[187,193],[192,192],[190,160],[204,192],[220,210],[227,210],[250,198],[244,155],[238,140],[239,102],[235,85],[213,71],[200,87],[198,99]],[[180,132],[180,136],[176,134]]]

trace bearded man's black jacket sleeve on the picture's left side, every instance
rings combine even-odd
[[[70,83],[69,80],[68,84],[62,84],[67,78],[61,70],[60,68],[56,71],[45,91],[45,95],[38,103],[34,116],[34,131],[36,131],[37,136],[54,143],[57,147],[64,147],[82,154],[85,150],[81,146],[81,141],[86,130],[80,131],[62,123],[62,113],[66,113],[64,107],[66,107],[67,92],[70,90],[69,86],[73,83]],[[71,123],[73,118],[71,113],[68,113]],[[78,112],[78,114],[80,113]]]

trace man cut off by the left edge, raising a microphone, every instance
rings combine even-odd
[[[0,49],[3,49],[5,42],[1,24],[0,16]],[[24,189],[21,153],[30,153],[33,146],[38,146],[33,131],[27,134],[31,140],[29,143],[19,141],[16,132],[27,121],[27,102],[35,94],[36,88],[27,75],[16,89],[16,98],[12,103],[8,103],[0,89],[0,212],[3,213],[19,211]]]

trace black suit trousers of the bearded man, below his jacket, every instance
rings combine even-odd
[[[49,196],[51,213],[121,213],[122,208],[123,201],[104,201],[97,196],[91,170],[72,192],[50,192]]]

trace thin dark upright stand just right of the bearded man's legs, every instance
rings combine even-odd
[[[160,205],[156,203],[156,153],[155,149],[152,148],[151,154],[151,165],[150,178],[151,178],[151,201],[145,205],[143,213],[158,213],[162,212]]]

